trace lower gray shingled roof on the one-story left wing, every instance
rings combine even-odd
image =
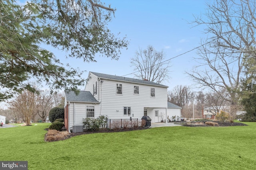
[[[79,94],[76,95],[73,91],[65,91],[66,99],[68,101],[72,102],[95,102],[98,103],[98,101],[92,96],[91,92],[87,91],[79,91]]]

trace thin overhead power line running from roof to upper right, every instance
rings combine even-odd
[[[252,21],[252,22],[253,22],[253,21]],[[243,25],[242,27],[245,27],[245,26],[249,25],[249,24],[252,23],[252,22],[249,22],[249,23]],[[186,51],[185,53],[182,53],[182,54],[180,54],[180,55],[176,55],[175,57],[172,57],[172,58],[170,58],[170,59],[168,59],[168,60],[162,61],[161,63],[158,63],[158,64],[162,64],[162,63],[165,63],[166,61],[170,61],[170,60],[172,60],[172,59],[175,59],[175,58],[177,58],[177,57],[180,57],[180,56],[182,56],[182,55],[184,55],[184,54],[186,54],[186,53],[189,53],[190,51],[193,51],[193,50],[195,50],[195,49],[198,49],[198,48],[200,48],[200,47],[202,47],[202,46],[204,46],[204,45],[206,45],[206,44],[208,44],[208,43],[211,43],[211,42],[213,42],[213,41],[215,41],[215,40],[217,40],[217,39],[219,39],[219,38],[221,38],[221,37],[224,37],[224,36],[228,35],[229,33],[232,33],[232,32],[234,32],[234,31],[238,31],[238,29],[241,29],[242,27],[239,27],[239,28],[237,28],[237,29],[235,29],[235,30],[233,30],[233,31],[229,31],[229,32],[227,32],[226,34],[224,34],[224,35],[222,35],[222,36],[220,36],[220,37],[217,37],[217,38],[213,39],[212,41],[206,42],[206,43],[204,43],[204,44],[202,44],[202,45],[200,45],[200,46],[198,46],[198,47],[195,47],[195,48],[193,48],[193,49],[191,49],[191,50],[189,50],[189,51]],[[155,65],[156,65],[156,64],[155,64]],[[155,66],[155,65],[153,65],[153,66]],[[152,66],[150,66],[150,67],[148,67],[148,68],[151,68],[151,67],[152,67]],[[146,69],[148,69],[148,68],[144,68],[144,69],[142,69],[142,70],[146,70]],[[141,70],[138,70],[138,71],[135,71],[135,72],[126,74],[126,75],[124,75],[124,76],[128,76],[128,75],[130,75],[130,74],[134,74],[134,73],[140,72],[140,71],[141,71]],[[124,76],[122,76],[122,77],[124,77]]]

